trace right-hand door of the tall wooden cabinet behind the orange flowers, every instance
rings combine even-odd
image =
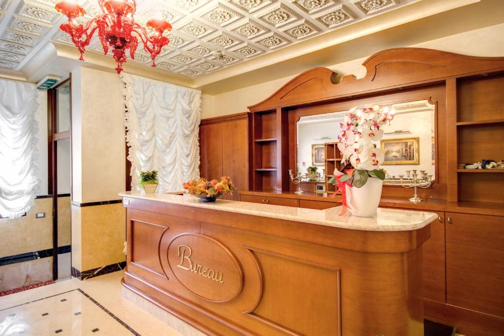
[[[247,119],[222,123],[222,175],[231,176],[238,190],[248,190]],[[239,200],[238,190],[224,199]]]

